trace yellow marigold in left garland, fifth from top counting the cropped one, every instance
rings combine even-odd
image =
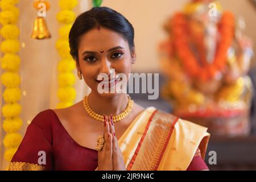
[[[6,53],[0,61],[2,69],[6,71],[16,72],[19,69],[20,57],[18,55]]]

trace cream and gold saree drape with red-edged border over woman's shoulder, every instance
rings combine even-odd
[[[204,159],[207,128],[147,107],[119,138],[127,170],[186,170],[197,148]]]

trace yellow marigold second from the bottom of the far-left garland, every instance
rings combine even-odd
[[[3,145],[6,148],[14,148],[18,147],[21,141],[22,135],[19,133],[9,133],[5,135],[5,138],[3,138]]]

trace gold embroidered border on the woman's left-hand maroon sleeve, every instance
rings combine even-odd
[[[25,162],[11,162],[9,171],[43,171],[44,167],[39,164]]]

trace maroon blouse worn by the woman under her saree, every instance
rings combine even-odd
[[[38,163],[46,152],[46,164]],[[42,159],[42,158],[41,158]],[[97,151],[78,144],[65,130],[56,113],[40,112],[27,127],[26,134],[11,162],[40,164],[46,170],[88,170],[98,166]],[[195,156],[188,170],[208,169],[200,156]]]

